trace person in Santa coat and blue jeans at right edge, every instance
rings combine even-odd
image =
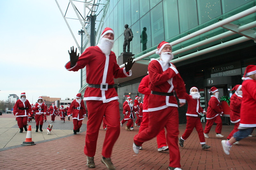
[[[252,134],[256,128],[256,65],[248,65],[244,71],[243,100],[240,109],[240,124],[238,131],[230,140],[222,140],[224,152],[229,155],[229,150],[236,141],[240,141]]]

